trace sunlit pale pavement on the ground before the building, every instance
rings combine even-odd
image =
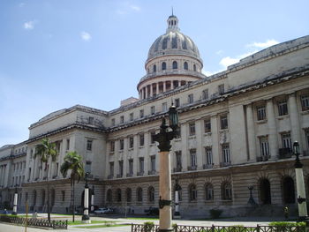
[[[72,216],[70,215],[54,215],[52,214],[52,219],[57,220],[68,220],[72,221]],[[144,217],[144,216],[141,216]],[[38,218],[47,218],[46,213],[39,213]],[[75,217],[76,221],[81,220],[81,216],[77,215]],[[52,229],[52,228],[26,228],[22,226],[16,226],[8,223],[0,223],[0,232],[42,232],[51,230],[53,232],[64,232],[64,231],[76,231],[76,232],[130,232],[131,223],[134,224],[143,224],[145,221],[153,221],[156,225],[159,224],[159,220],[154,220],[149,218],[147,219],[126,219],[123,215],[115,216],[110,215],[106,217],[96,217],[91,216],[93,221],[113,221],[115,224],[122,224],[127,226],[121,227],[107,227],[107,228],[82,228],[85,226],[94,226],[94,225],[104,225],[103,223],[98,224],[82,224],[82,225],[72,225],[68,226],[67,230],[64,229]],[[268,225],[270,221],[283,221],[283,218],[269,218],[269,217],[245,217],[245,218],[230,218],[230,219],[219,219],[215,221],[207,220],[173,220],[172,223],[177,223],[177,225],[186,225],[186,226],[232,226],[232,225],[243,225],[243,226],[256,226],[259,225]]]

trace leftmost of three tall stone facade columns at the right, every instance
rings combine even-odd
[[[246,121],[247,121],[247,138],[248,138],[248,152],[249,161],[255,161],[257,156],[256,143],[255,143],[255,131],[254,131],[254,119],[252,104],[246,106]]]

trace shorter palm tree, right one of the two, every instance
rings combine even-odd
[[[68,171],[71,170],[71,191],[73,201],[73,221],[75,221],[75,199],[74,199],[74,187],[75,180],[78,183],[81,177],[85,176],[84,165],[81,156],[77,152],[67,153],[64,157],[64,163],[60,167],[60,172],[65,177]]]

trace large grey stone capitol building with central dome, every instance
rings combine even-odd
[[[309,197],[309,36],[205,76],[198,46],[180,32],[177,17],[167,24],[148,51],[139,98],[111,111],[81,105],[57,110],[31,124],[26,141],[0,148],[0,206],[12,206],[17,188],[19,211],[27,201],[31,210],[46,212],[48,175],[51,211],[67,213],[71,184],[60,166],[76,151],[91,173],[95,206],[117,213],[158,207],[154,135],[174,102],[180,134],[172,141],[171,178],[172,191],[180,187],[182,216],[206,218],[211,209],[224,216],[275,216],[283,215],[283,206],[297,213],[295,140]],[[34,158],[42,138],[55,142],[59,153],[49,161],[49,174]],[[83,206],[84,185],[76,184],[76,206]]]

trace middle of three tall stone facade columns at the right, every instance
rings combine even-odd
[[[268,118],[268,134],[269,134],[269,151],[270,151],[270,159],[274,160],[278,155],[278,134],[275,124],[275,109],[274,103],[272,99],[268,99],[267,101],[267,118]]]

